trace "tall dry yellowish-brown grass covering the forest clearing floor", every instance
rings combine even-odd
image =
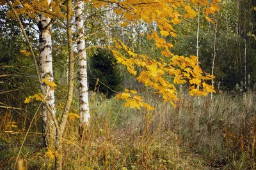
[[[93,94],[92,122],[79,135],[79,120],[68,120],[63,157],[65,169],[255,169],[255,94],[217,94],[197,98],[180,94],[177,108],[148,90],[145,101],[156,111],[131,110],[122,101]],[[15,120],[8,113],[1,121]],[[4,118],[4,119],[3,119]],[[18,121],[19,122],[19,121]],[[24,127],[24,122],[17,123]],[[4,129],[5,128],[5,129]],[[1,126],[0,164],[11,169],[23,133]],[[10,129],[9,129],[10,130]],[[19,131],[19,128],[12,129]],[[22,150],[28,169],[52,169],[54,161],[40,146],[40,119]],[[13,147],[13,144],[17,144]],[[41,145],[42,146],[42,145]],[[211,167],[210,167],[211,166]]]

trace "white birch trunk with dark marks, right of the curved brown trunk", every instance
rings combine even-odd
[[[84,3],[83,0],[76,1],[76,36],[82,38],[84,25]],[[79,67],[79,113],[81,117],[81,124],[89,125],[89,97],[88,97],[88,80],[87,80],[87,62],[84,39],[77,42],[78,67]],[[84,51],[83,51],[84,50]]]

